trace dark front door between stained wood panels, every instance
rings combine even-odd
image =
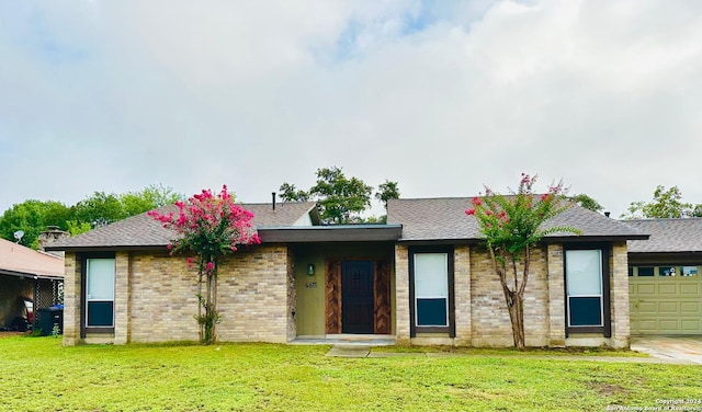
[[[373,333],[373,262],[341,264],[341,332]]]

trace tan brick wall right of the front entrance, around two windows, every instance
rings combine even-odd
[[[587,334],[586,339],[565,336],[565,276],[563,245],[540,245],[532,250],[530,275],[524,296],[524,333],[528,346],[629,345],[629,289],[626,244],[615,243],[610,259],[612,339]],[[397,340],[409,339],[408,251],[395,249]],[[509,312],[492,262],[483,247],[454,249],[454,302],[456,336],[453,344],[473,346],[513,345]],[[433,336],[440,339],[441,336]],[[422,340],[423,339],[423,340]],[[416,343],[429,342],[426,336]],[[443,337],[445,340],[445,336]]]

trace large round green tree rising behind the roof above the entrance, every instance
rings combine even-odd
[[[321,218],[327,222],[350,224],[371,206],[373,187],[358,178],[348,179],[341,168],[317,169],[317,184],[309,194],[317,196]]]

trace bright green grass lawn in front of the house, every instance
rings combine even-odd
[[[698,399],[702,367],[543,359],[325,357],[329,346],[63,347],[0,340],[0,410],[603,411]]]

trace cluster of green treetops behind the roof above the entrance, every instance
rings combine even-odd
[[[317,169],[317,183],[308,191],[298,190],[294,184],[283,183],[281,198],[285,202],[316,201],[321,208],[321,218],[328,224],[362,222],[360,214],[371,207],[373,186],[359,178],[347,178],[338,167]],[[385,181],[378,186],[375,198],[387,206],[387,201],[398,198],[397,182]],[[369,221],[384,221],[371,218]]]

